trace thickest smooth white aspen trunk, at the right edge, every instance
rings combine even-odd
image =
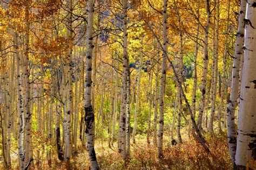
[[[256,160],[256,1],[247,1],[245,19],[244,68],[238,114],[235,164],[239,169],[253,168]]]

